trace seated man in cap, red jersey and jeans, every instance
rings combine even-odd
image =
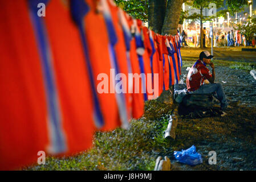
[[[202,51],[200,53],[199,59],[189,70],[188,77],[186,78],[186,86],[190,93],[209,94],[216,92],[217,99],[221,102],[221,109],[224,110],[228,103],[222,85],[214,83],[215,71],[214,64],[211,62],[212,57],[208,51]],[[206,68],[206,64],[212,67],[212,74]],[[203,85],[205,78],[210,84]]]

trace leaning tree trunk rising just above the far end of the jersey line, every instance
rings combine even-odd
[[[183,0],[169,0],[165,11],[162,35],[176,35]]]

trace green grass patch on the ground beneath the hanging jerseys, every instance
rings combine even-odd
[[[172,152],[163,137],[172,106],[157,100],[147,101],[145,114],[133,119],[129,129],[97,132],[94,146],[76,156],[46,158],[46,165],[27,170],[153,170],[160,154]]]

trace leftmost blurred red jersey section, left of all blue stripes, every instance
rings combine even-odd
[[[13,170],[46,150],[47,103],[27,1],[0,3],[0,170]]]

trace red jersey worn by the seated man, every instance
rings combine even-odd
[[[205,78],[209,80],[211,77],[212,73],[206,68],[206,64],[201,60],[197,60],[193,67],[190,68],[188,77],[186,77],[188,91],[197,90],[203,84]]]

